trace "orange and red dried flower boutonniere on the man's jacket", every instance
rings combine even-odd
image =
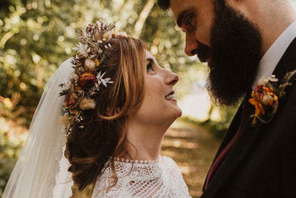
[[[255,114],[252,126],[255,127],[257,120],[268,123],[273,118],[279,106],[279,98],[282,98],[286,92],[285,88],[291,86],[295,81],[296,70],[285,75],[283,82],[277,86],[278,79],[275,75],[270,77],[263,76],[258,85],[252,91],[252,98],[249,102],[255,106]]]

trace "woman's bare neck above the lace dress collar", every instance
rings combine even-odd
[[[170,124],[162,126],[143,125],[130,122],[128,124],[126,145],[128,153],[133,161],[153,161],[160,153],[161,144],[165,132]]]

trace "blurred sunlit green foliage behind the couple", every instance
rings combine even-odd
[[[151,0],[148,0],[151,1]],[[2,0],[0,7],[0,196],[24,144],[46,82],[70,58],[75,29],[109,16],[119,31],[133,35],[146,0]],[[154,1],[154,0],[153,0]],[[185,35],[156,4],[141,29],[160,66],[180,77],[181,98],[193,82],[202,83],[205,66],[184,54]],[[221,110],[213,123],[225,130],[235,110]],[[224,113],[223,113],[224,112]],[[209,126],[212,126],[209,125]],[[221,127],[220,127],[221,125]],[[221,135],[220,135],[221,136]]]

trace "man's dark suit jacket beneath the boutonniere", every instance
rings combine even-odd
[[[295,69],[296,38],[277,64],[274,75],[281,81]],[[242,105],[215,159],[236,134],[241,118]],[[248,120],[207,189],[204,185],[202,198],[296,197],[296,86],[287,89],[269,123],[259,122],[253,128],[252,120]]]

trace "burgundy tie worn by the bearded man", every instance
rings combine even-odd
[[[235,144],[235,142],[239,138],[239,135],[242,133],[245,125],[247,124],[248,119],[250,118],[250,116],[253,113],[255,113],[254,106],[252,106],[252,104],[249,103],[249,99],[250,99],[250,95],[251,95],[249,93],[250,92],[248,91],[245,98],[244,98],[242,121],[240,123],[239,129],[238,129],[237,133],[235,134],[235,136],[232,138],[232,140],[228,143],[228,145],[223,149],[223,151],[219,154],[219,156],[215,159],[214,163],[212,164],[210,171],[209,171],[209,175],[207,177],[205,189],[207,188],[207,186],[209,186],[210,181],[213,179],[217,170],[219,169],[219,167],[223,163],[224,159],[226,158],[226,156],[230,152],[231,148],[233,147],[233,145]]]

